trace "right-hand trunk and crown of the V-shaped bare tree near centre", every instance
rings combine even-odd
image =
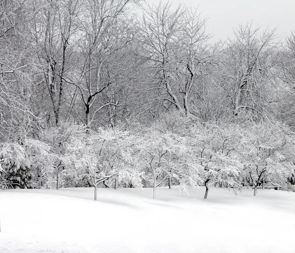
[[[183,83],[181,93],[187,116],[191,114],[189,97],[193,93],[200,96],[202,77],[208,74],[208,65],[214,63],[212,51],[206,44],[209,38],[205,30],[206,22],[207,19],[201,17],[198,9],[185,8],[179,37],[179,56],[177,57],[182,64],[182,69],[179,67],[177,77],[178,81]],[[196,99],[196,96],[193,98]]]

